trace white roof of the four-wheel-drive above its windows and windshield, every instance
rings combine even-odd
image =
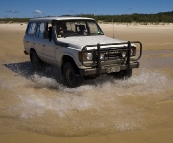
[[[93,18],[87,17],[44,17],[44,18],[33,18],[30,21],[52,21],[52,20],[94,20]]]

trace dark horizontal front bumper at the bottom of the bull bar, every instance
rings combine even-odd
[[[88,69],[79,69],[79,72],[82,76],[88,76],[88,75],[97,75],[99,74],[105,74],[107,73],[107,69],[110,67],[119,66],[120,71],[126,70],[126,69],[132,69],[132,68],[138,68],[140,65],[139,62],[133,62],[129,65],[107,65],[107,66],[101,66],[100,68],[88,68]]]

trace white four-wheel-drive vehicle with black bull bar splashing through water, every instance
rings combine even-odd
[[[94,19],[83,17],[31,19],[23,43],[36,71],[46,64],[56,65],[71,88],[100,74],[130,77],[142,54],[140,42],[109,38]]]

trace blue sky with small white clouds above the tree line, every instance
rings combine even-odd
[[[0,18],[173,11],[173,0],[0,0]]]

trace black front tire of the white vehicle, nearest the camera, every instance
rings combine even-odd
[[[75,88],[83,83],[83,76],[76,74],[74,66],[66,62],[63,66],[63,79],[64,83],[69,88]]]

